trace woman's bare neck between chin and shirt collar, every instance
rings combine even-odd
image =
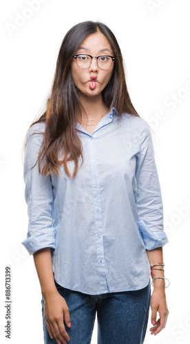
[[[82,109],[82,119],[88,118],[90,120],[92,118],[98,118],[107,109],[107,106],[103,102],[102,94],[92,97],[81,94],[78,94],[78,96],[84,108]]]

